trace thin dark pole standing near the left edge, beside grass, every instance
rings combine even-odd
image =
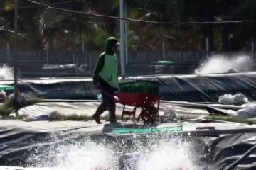
[[[16,116],[18,116],[17,35],[18,35],[18,0],[15,0],[15,8],[14,8],[14,109],[15,109]]]

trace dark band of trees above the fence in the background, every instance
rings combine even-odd
[[[119,16],[119,0],[41,0],[73,11]],[[127,17],[174,25],[127,21],[130,50],[244,50],[255,40],[256,23],[178,24],[181,22],[256,21],[255,0],[126,0]],[[0,1],[0,47],[14,42],[14,0]],[[119,37],[119,19],[60,11],[18,0],[18,49],[102,50],[105,38]]]

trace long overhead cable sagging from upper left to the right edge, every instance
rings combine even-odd
[[[112,19],[119,19],[119,20],[126,20],[126,21],[134,21],[134,22],[141,22],[141,23],[154,23],[154,24],[163,24],[163,25],[205,25],[205,24],[222,24],[222,23],[254,23],[254,20],[240,20],[240,21],[210,21],[210,22],[181,22],[181,23],[174,23],[174,22],[159,22],[159,21],[146,21],[141,19],[132,19],[132,18],[121,18],[117,16],[107,16],[107,15],[101,15],[97,13],[86,13],[81,11],[73,11],[70,9],[64,9],[64,8],[56,8],[53,6],[48,6],[47,4],[41,4],[37,1],[27,0],[33,4],[38,4],[40,6],[45,6],[46,8],[55,9],[58,11],[65,11],[70,13],[78,13],[82,15],[87,16],[95,16],[100,18],[112,18]]]

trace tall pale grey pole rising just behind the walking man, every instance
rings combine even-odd
[[[124,0],[119,1],[120,18],[124,18]],[[124,65],[124,20],[120,19],[120,59],[121,59],[121,76],[124,79],[125,65]]]

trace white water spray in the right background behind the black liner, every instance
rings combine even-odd
[[[252,69],[253,64],[250,56],[239,55],[239,56],[224,56],[224,55],[213,55],[201,67],[196,69],[196,74],[211,74],[211,73],[226,73],[228,69],[235,69],[239,72],[249,71]]]

